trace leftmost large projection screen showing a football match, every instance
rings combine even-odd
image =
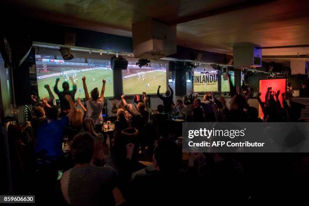
[[[60,78],[58,83],[58,89],[62,91],[62,83],[64,81],[69,82],[70,90],[73,88],[73,84],[69,79],[70,76],[74,78],[77,84],[77,91],[75,98],[84,98],[85,93],[82,84],[82,77],[86,77],[86,83],[88,92],[97,87],[100,91],[102,87],[102,79],[106,80],[105,96],[114,96],[113,86],[113,70],[111,70],[110,58],[89,58],[74,55],[72,60],[63,60],[60,53],[55,55],[35,55],[36,62],[36,75],[38,95],[40,98],[49,97],[47,89],[44,85],[49,85],[56,99],[58,95],[54,92],[54,86],[56,78]]]

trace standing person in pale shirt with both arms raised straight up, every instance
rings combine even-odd
[[[105,79],[102,80],[102,88],[101,93],[99,95],[97,87],[91,90],[89,97],[87,85],[86,85],[86,77],[82,78],[83,80],[83,87],[85,91],[85,97],[86,97],[86,106],[87,106],[87,113],[86,118],[90,118],[93,120],[95,124],[96,131],[102,130],[102,109],[104,107],[104,91],[105,91]]]

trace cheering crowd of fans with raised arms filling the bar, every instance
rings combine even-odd
[[[155,111],[149,108],[146,93],[136,105],[128,104],[125,95],[120,102],[114,100],[111,112],[117,114],[115,131],[107,134],[102,130],[106,81],[89,95],[83,77],[85,105],[78,98],[81,109],[77,109],[77,87],[71,80],[73,89],[65,81],[63,91],[58,89],[59,78],[56,80],[54,91],[60,99],[60,111],[45,85],[49,98],[35,105],[27,145],[21,144],[22,130],[9,127],[8,136],[15,139],[10,155],[15,169],[14,192],[18,194],[36,194],[38,203],[61,205],[248,205],[276,201],[278,195],[286,195],[288,202],[303,192],[295,189],[287,194],[281,184],[293,186],[308,180],[303,173],[309,169],[306,153],[190,153],[184,158],[176,141],[182,131],[175,129],[178,125],[173,121],[300,122],[303,105],[293,101],[291,95],[268,88],[262,102],[259,94],[262,120],[258,110],[248,104],[250,89],[241,91],[231,86],[230,102],[210,92],[202,100],[198,95],[184,96],[175,105],[172,88],[169,86],[162,95],[159,86],[157,95],[163,104]],[[70,146],[68,153],[63,152],[65,141]],[[152,166],[144,169],[141,161]],[[143,173],[134,174],[142,169]],[[270,180],[273,184],[266,186]]]

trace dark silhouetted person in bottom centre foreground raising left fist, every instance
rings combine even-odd
[[[133,150],[134,145],[127,145]],[[128,154],[132,152],[127,152]],[[123,197],[129,205],[183,205],[182,195],[187,193],[184,188],[182,175],[179,169],[182,162],[182,153],[178,145],[167,138],[160,139],[153,155],[154,171],[146,175],[137,175],[131,181],[120,185]],[[131,173],[125,170],[130,168],[130,155],[127,155],[128,165],[123,168],[120,179],[131,179]],[[155,198],[153,198],[155,197]]]

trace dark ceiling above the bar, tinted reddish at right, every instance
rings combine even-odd
[[[232,54],[234,43],[252,42],[270,47],[263,49],[263,56],[309,54],[308,0],[10,0],[0,4],[34,19],[124,36],[132,35],[133,22],[154,18],[177,24],[179,45],[211,52]]]

